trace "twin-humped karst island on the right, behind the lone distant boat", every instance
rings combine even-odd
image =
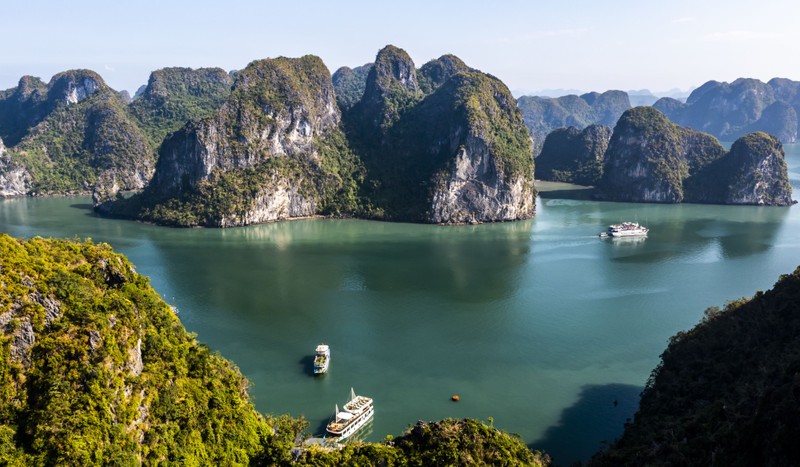
[[[654,108],[623,114],[605,155],[597,197],[658,203],[791,204],[780,143],[747,135],[726,153],[710,135],[669,122]]]

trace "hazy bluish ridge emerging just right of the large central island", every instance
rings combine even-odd
[[[622,113],[631,108],[624,91],[558,98],[522,96],[517,104],[533,137],[534,156],[537,157],[545,138],[553,130],[570,126],[582,130],[592,124],[614,126]]]

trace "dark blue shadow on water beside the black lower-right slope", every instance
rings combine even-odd
[[[550,454],[556,466],[585,462],[622,435],[626,419],[633,419],[639,406],[642,389],[630,384],[584,386],[558,424],[530,447]]]

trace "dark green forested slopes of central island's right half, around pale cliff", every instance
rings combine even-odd
[[[508,88],[453,55],[419,70],[387,46],[370,70],[362,99],[343,114],[351,147],[366,167],[362,185],[370,217],[425,222],[434,192],[454,156],[485,151],[488,172],[524,179],[533,192],[530,135]],[[490,176],[481,182],[491,183]],[[479,176],[475,176],[479,178]]]

